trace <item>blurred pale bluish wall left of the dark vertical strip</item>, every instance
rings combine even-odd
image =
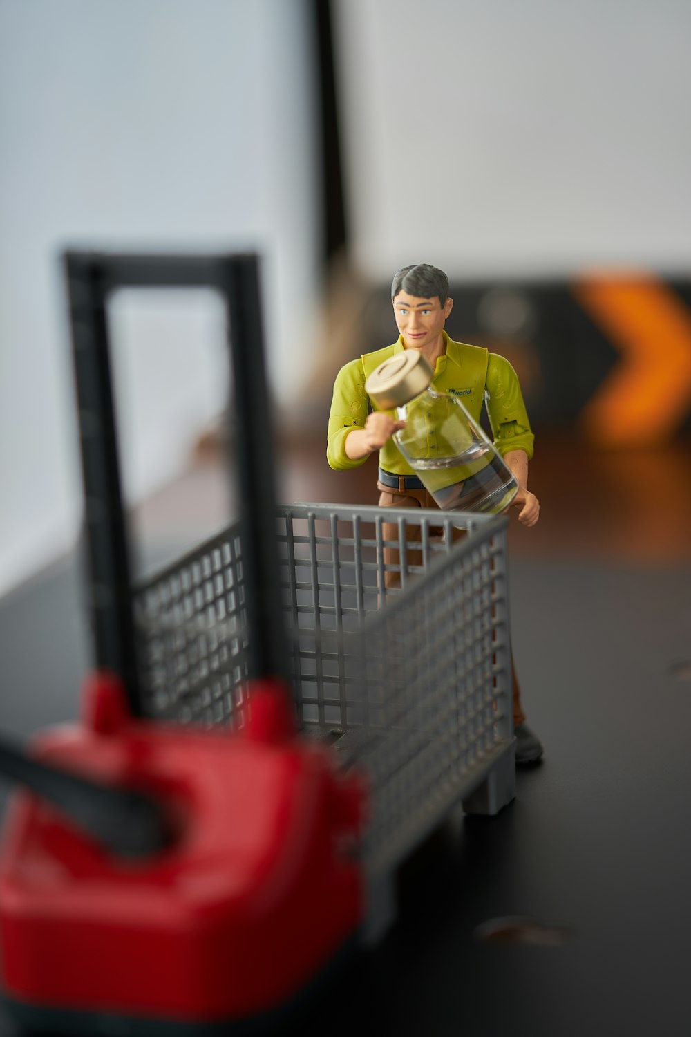
[[[272,384],[294,392],[315,290],[309,28],[301,0],[0,0],[0,590],[78,528],[65,245],[262,252]],[[153,437],[137,496],[222,405],[220,316],[131,298],[113,319],[159,344],[136,361]],[[200,330],[209,362],[185,354]]]

